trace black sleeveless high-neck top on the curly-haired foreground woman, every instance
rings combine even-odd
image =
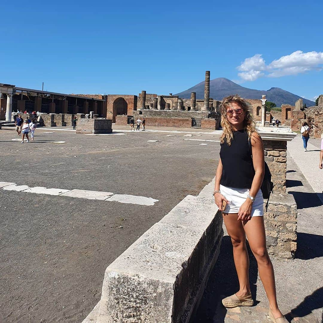
[[[221,144],[222,176],[220,184],[234,188],[251,188],[255,176],[248,134],[245,130],[233,131],[231,146]]]

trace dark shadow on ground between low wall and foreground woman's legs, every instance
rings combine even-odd
[[[253,299],[256,299],[256,282],[258,266],[249,245],[250,287]],[[222,305],[222,299],[239,290],[238,277],[234,267],[232,243],[229,236],[224,236],[220,255],[206,285],[201,303],[190,323],[223,323],[227,310]],[[255,305],[259,302],[255,302]]]

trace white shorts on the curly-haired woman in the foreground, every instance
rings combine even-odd
[[[221,194],[230,202],[224,213],[238,213],[240,206],[245,202],[250,190],[248,188],[234,188],[220,185]],[[264,216],[264,198],[259,189],[254,203],[252,203],[251,216]]]

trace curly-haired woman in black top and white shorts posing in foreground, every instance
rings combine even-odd
[[[247,102],[230,95],[221,102],[221,151],[216,171],[214,199],[233,245],[234,264],[240,289],[222,300],[224,307],[252,306],[249,284],[249,257],[246,236],[258,264],[259,275],[269,300],[269,316],[273,322],[288,322],[276,301],[273,265],[266,248],[263,196],[264,147],[255,129]],[[251,141],[252,156],[248,141]]]

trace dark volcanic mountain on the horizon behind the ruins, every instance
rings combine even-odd
[[[191,92],[196,92],[196,99],[204,98],[204,81],[196,84],[193,88],[187,89],[181,93],[177,93],[180,98],[189,99]],[[222,100],[224,97],[230,94],[239,94],[246,99],[261,99],[262,94],[266,94],[266,99],[270,102],[276,103],[277,107],[282,104],[295,105],[295,102],[301,98],[300,96],[285,91],[280,88],[271,88],[267,91],[260,91],[254,89],[244,88],[239,84],[230,81],[227,78],[214,78],[210,80],[210,98],[214,100]],[[307,107],[315,105],[314,101],[303,99],[303,103],[306,103]]]

